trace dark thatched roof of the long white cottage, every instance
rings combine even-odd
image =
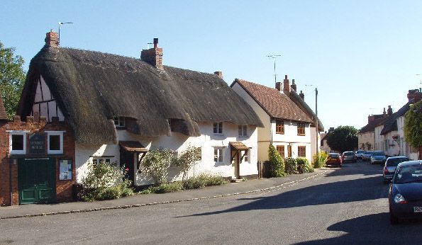
[[[214,74],[164,67],[131,57],[63,47],[43,47],[30,62],[18,113],[29,115],[42,75],[81,144],[116,144],[113,117],[145,137],[168,135],[168,120],[199,136],[197,122],[262,123],[252,108]],[[182,122],[182,123],[180,123]]]

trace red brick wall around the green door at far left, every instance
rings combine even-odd
[[[30,157],[51,157],[55,161],[56,166],[56,197],[57,201],[72,200],[72,185],[76,182],[76,171],[74,169],[74,136],[72,129],[64,122],[45,123],[45,119],[41,118],[40,122],[34,122],[33,117],[27,117],[26,122],[22,122],[18,117],[13,122],[1,122],[0,121],[0,205],[18,205],[18,164],[17,160],[13,159],[13,156],[9,157],[9,132],[7,130],[27,130],[26,134],[26,149],[28,153],[29,149],[29,135],[33,132],[44,132],[44,131],[65,131],[63,134],[63,154],[60,156],[45,155],[25,155]],[[47,144],[47,139],[45,139]],[[45,145],[47,151],[47,145]],[[11,163],[12,159],[12,164]],[[72,160],[72,180],[60,181],[59,180],[59,160],[70,159]],[[11,166],[11,167],[9,167]],[[10,200],[10,179],[9,171],[12,173],[12,203]]]

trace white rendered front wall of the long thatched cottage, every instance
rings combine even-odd
[[[250,147],[249,161],[240,164],[240,176],[257,175],[257,130],[255,126],[248,126],[249,137],[238,136],[238,125],[233,123],[223,123],[223,135],[213,134],[212,123],[199,123],[201,136],[187,137],[178,132],[172,132],[171,136],[145,138],[127,132],[126,130],[118,130],[118,140],[136,140],[148,149],[171,149],[177,152],[182,152],[189,145],[192,147],[201,147],[201,161],[195,164],[191,169],[189,176],[196,176],[199,173],[218,174],[223,177],[235,177],[233,164],[231,163],[231,147],[229,142],[240,141],[247,147]],[[214,148],[223,148],[223,163],[215,163],[213,161]],[[120,150],[116,144],[102,145],[102,146],[76,146],[77,162],[77,182],[82,181],[86,174],[87,164],[92,161],[90,156],[114,156],[112,161],[120,164]],[[150,176],[137,169],[135,171],[135,185],[142,186],[152,183]],[[170,167],[168,174],[168,181],[176,181],[182,178],[182,173],[176,167]]]

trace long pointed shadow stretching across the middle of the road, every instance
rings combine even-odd
[[[370,186],[371,188],[365,188],[366,186]],[[380,193],[382,193],[382,196],[380,196]],[[348,203],[379,198],[387,198],[387,186],[382,183],[381,176],[374,176],[309,186],[270,197],[239,198],[238,200],[252,200],[252,202],[228,210],[204,212],[182,217],[218,215],[226,212],[249,210],[270,210],[304,207],[309,205]]]

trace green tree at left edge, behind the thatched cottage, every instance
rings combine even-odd
[[[20,55],[14,55],[14,52],[14,47],[4,47],[0,42],[0,96],[9,119],[16,114],[23,84],[25,84],[23,58]]]

